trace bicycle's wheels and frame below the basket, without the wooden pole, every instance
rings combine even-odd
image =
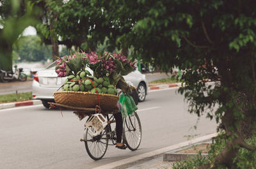
[[[92,136],[88,132],[88,128],[84,130],[84,145],[88,155],[94,160],[99,160],[104,156],[108,145],[116,144],[115,129],[113,130],[111,128],[114,117],[113,115],[110,117],[108,115],[107,118],[111,123],[104,128],[100,135]],[[131,115],[127,115],[127,117],[123,118],[123,126],[123,143],[125,143],[131,151],[136,151],[140,146],[142,135],[140,118],[137,112],[133,112]],[[91,129],[93,130],[93,128]],[[111,143],[109,143],[109,140]]]

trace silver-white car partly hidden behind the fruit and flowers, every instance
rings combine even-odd
[[[49,108],[47,102],[54,101],[53,93],[61,91],[60,87],[65,83],[67,77],[57,77],[55,72],[56,62],[52,62],[45,70],[38,71],[33,77],[32,83],[32,96],[33,99],[40,99],[45,108]],[[92,70],[86,68],[93,74]],[[124,76],[125,81],[128,84],[137,87],[139,94],[139,101],[144,101],[148,92],[148,82],[146,76],[135,70]]]

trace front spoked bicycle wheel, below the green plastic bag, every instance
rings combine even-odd
[[[138,149],[140,146],[141,135],[142,131],[140,118],[136,112],[133,112],[125,117],[123,131],[123,139],[131,151],[136,151],[136,149]]]

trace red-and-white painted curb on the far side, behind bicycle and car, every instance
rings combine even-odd
[[[181,83],[177,84],[164,84],[164,85],[156,85],[152,87],[148,87],[150,91],[157,90],[157,89],[166,89],[169,87],[180,87]],[[2,103],[0,104],[0,110],[4,108],[13,108],[13,107],[22,107],[22,106],[29,106],[29,105],[40,105],[42,102],[38,99],[36,100],[28,100],[28,101],[19,101],[13,103]]]

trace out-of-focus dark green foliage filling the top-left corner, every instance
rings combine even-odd
[[[12,70],[12,46],[24,29],[36,23],[40,10],[28,0],[1,0],[0,68]]]

